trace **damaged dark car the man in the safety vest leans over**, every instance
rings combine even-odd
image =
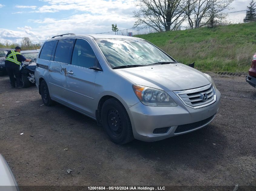
[[[24,50],[20,53],[26,58],[31,59],[31,62],[22,62],[20,66],[20,72],[22,74],[22,83],[24,88],[29,88],[32,85],[35,85],[35,67],[36,67],[36,58],[39,50]]]

